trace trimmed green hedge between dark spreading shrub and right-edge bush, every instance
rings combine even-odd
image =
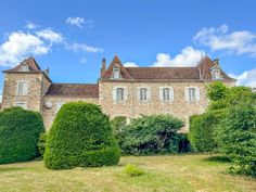
[[[216,150],[214,130],[225,118],[226,113],[226,110],[216,110],[190,117],[189,140],[194,152],[214,152]]]

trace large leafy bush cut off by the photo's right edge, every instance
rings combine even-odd
[[[240,103],[229,108],[227,118],[216,129],[216,141],[232,166],[230,170],[256,176],[256,108]]]

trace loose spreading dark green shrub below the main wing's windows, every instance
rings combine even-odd
[[[183,123],[171,115],[151,115],[132,119],[120,132],[123,153],[133,155],[178,152],[177,131]]]

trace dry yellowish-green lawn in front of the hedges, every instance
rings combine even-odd
[[[129,177],[127,164],[144,175]],[[254,192],[256,179],[229,175],[229,163],[208,155],[126,156],[118,166],[49,170],[41,161],[0,165],[0,191],[22,192]]]

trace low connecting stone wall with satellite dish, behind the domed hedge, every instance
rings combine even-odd
[[[61,97],[61,95],[46,95],[42,101],[42,118],[44,123],[44,127],[49,130],[52,126],[52,123],[56,116],[57,111],[61,106],[65,103],[73,102],[73,101],[82,101],[88,103],[98,104],[98,98],[89,99],[89,98],[71,98],[71,97]],[[51,102],[52,107],[48,108],[46,106],[46,102]]]

